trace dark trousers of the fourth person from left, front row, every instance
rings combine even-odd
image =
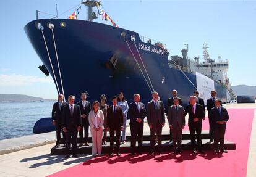
[[[135,152],[136,141],[138,141],[138,152],[142,152],[143,129],[143,123],[134,123],[133,125],[130,125],[130,134],[132,135],[130,147],[133,153]]]

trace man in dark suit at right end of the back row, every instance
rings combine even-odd
[[[215,107],[215,100],[216,100],[216,91],[213,90],[211,91],[211,97],[209,99],[207,99],[207,111],[208,111],[208,115],[211,112],[211,109],[213,107]],[[222,104],[221,104],[222,105]],[[210,135],[210,142],[213,142],[213,126],[214,123],[211,120],[211,118],[208,116],[208,120],[209,120],[209,135]]]

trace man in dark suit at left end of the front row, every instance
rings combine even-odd
[[[64,107],[62,113],[62,130],[66,133],[67,138],[67,155],[65,158],[69,158],[70,154],[73,157],[77,156],[77,131],[81,128],[81,112],[79,105],[74,104],[75,96],[69,96],[69,104]],[[70,150],[70,141],[72,137],[72,150]]]

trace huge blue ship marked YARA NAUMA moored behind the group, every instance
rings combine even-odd
[[[146,103],[151,93],[158,91],[166,103],[173,89],[184,104],[195,89],[205,99],[211,89],[216,89],[224,102],[234,97],[221,81],[181,65],[186,56],[169,56],[164,44],[135,31],[93,22],[92,9],[100,2],[82,3],[88,7],[88,20],[37,19],[25,25],[43,62],[41,70],[51,74],[58,93],[66,98],[70,94],[80,97],[86,91],[88,99],[96,101],[101,94],[111,98],[122,91],[129,102],[139,93]]]

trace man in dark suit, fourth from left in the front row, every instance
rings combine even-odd
[[[132,155],[135,154],[136,139],[138,139],[138,154],[140,155],[142,153],[143,127],[146,114],[145,105],[140,102],[140,95],[134,94],[134,102],[129,104],[128,110],[130,134],[132,135],[132,140],[130,142]]]

